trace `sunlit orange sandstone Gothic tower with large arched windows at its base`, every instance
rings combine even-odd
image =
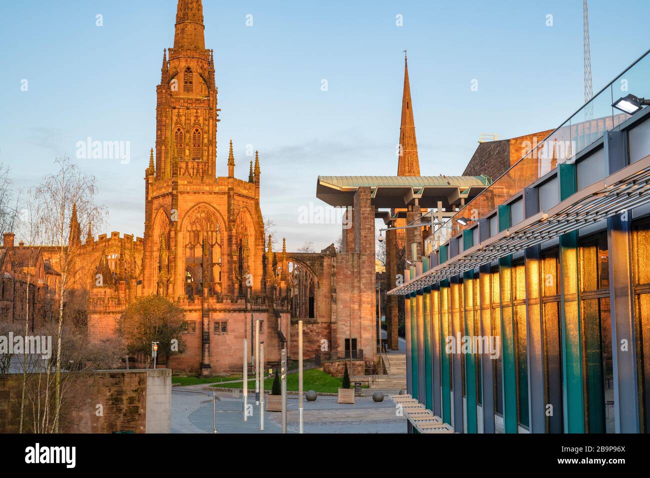
[[[250,317],[240,311],[250,300],[264,304],[266,289],[259,159],[253,181],[250,172],[235,177],[232,141],[217,163],[214,54],[204,30],[201,0],[179,0],[174,47],[162,53],[156,88],[155,159],[152,152],[145,171],[142,293],[183,307],[188,352],[175,360],[196,367],[200,357],[207,374],[239,369],[240,354],[219,355],[231,350],[220,343],[222,330],[228,340],[244,338]]]

